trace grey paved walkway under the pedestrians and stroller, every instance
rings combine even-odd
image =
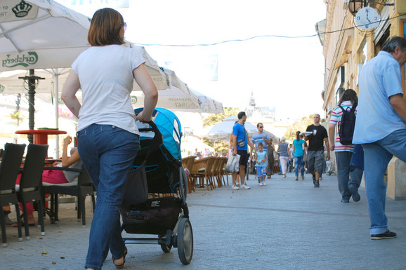
[[[389,229],[398,238],[372,241],[362,187],[361,201],[341,203],[334,175],[324,175],[318,189],[310,175],[304,181],[294,181],[294,173],[273,175],[265,187],[249,176],[250,190],[231,190],[230,179],[229,186],[188,195],[194,234],[188,266],[176,248],[164,253],[159,245],[127,245],[124,269],[406,269],[406,201],[386,201]],[[86,228],[73,203],[61,206],[58,224],[46,220],[45,236],[30,227],[31,240],[19,242],[8,227],[1,269],[84,269],[92,217],[87,203]],[[110,258],[103,270],[114,269]]]

